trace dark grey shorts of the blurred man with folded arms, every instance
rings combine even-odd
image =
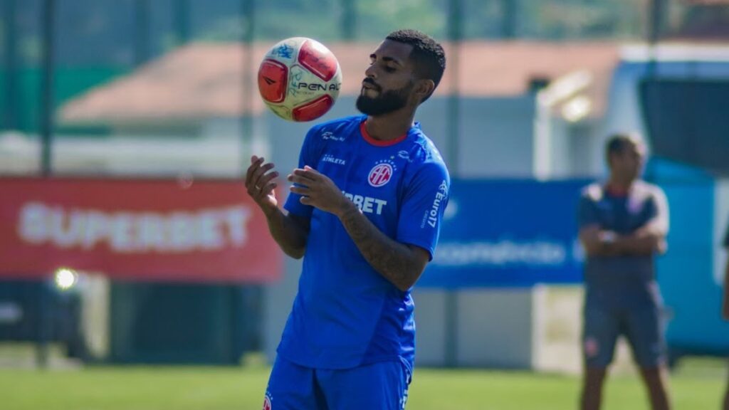
[[[607,368],[612,363],[615,342],[625,336],[633,349],[633,358],[642,368],[656,368],[666,363],[663,317],[660,306],[619,309],[586,306],[582,329],[582,354],[590,368]]]

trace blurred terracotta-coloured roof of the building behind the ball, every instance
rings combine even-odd
[[[262,112],[256,73],[270,44],[193,43],[163,55],[128,75],[99,85],[61,107],[62,123],[147,123]],[[343,72],[342,95],[359,93],[374,43],[331,43]],[[448,66],[436,96],[453,91],[466,97],[518,96],[532,80],[553,80],[573,71],[593,74],[591,94],[604,96],[619,47],[609,42],[462,42],[459,61],[444,45]],[[252,53],[252,54],[248,54]],[[249,81],[243,67],[249,61]],[[248,85],[248,95],[244,103]],[[600,105],[599,101],[596,101]]]

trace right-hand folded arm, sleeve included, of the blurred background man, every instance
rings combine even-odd
[[[653,216],[642,227],[630,235],[615,239],[617,252],[628,255],[652,255],[668,250],[668,201],[662,190],[657,189],[653,196]]]

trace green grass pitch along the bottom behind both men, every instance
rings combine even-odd
[[[674,372],[674,409],[719,409],[724,364],[691,360]],[[263,365],[0,369],[0,409],[257,410],[268,371]],[[408,409],[575,409],[579,382],[576,376],[521,371],[416,368]],[[631,374],[609,379],[604,409],[648,409],[639,380]]]

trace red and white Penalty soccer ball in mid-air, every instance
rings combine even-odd
[[[334,105],[341,86],[342,70],[335,55],[306,37],[276,43],[258,68],[261,97],[284,120],[321,117]]]

